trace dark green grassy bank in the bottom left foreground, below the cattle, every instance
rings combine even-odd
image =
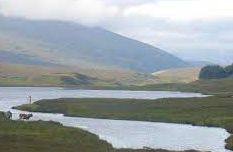
[[[168,152],[114,149],[96,135],[78,128],[63,127],[54,122],[10,121],[2,113],[0,149],[3,152]]]

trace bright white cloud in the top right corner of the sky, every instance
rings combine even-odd
[[[169,20],[213,20],[233,18],[232,0],[165,0],[135,5],[124,11],[125,16],[142,15]]]

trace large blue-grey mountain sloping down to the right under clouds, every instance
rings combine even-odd
[[[0,60],[10,63],[120,68],[151,73],[185,61],[99,27],[0,17]]]

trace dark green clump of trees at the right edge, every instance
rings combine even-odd
[[[233,64],[226,67],[208,65],[201,69],[199,79],[222,79],[233,76]]]

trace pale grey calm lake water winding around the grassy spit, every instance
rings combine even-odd
[[[202,97],[196,93],[164,91],[109,91],[109,90],[65,90],[62,88],[0,88],[0,111],[33,100],[64,97],[77,98],[135,98],[158,99],[168,97]],[[14,119],[21,111],[11,110]],[[65,126],[79,127],[107,140],[116,148],[143,148],[227,152],[224,140],[229,134],[221,128],[191,125],[155,123],[142,121],[89,119],[65,117],[62,114],[33,113],[33,120],[52,120]]]

